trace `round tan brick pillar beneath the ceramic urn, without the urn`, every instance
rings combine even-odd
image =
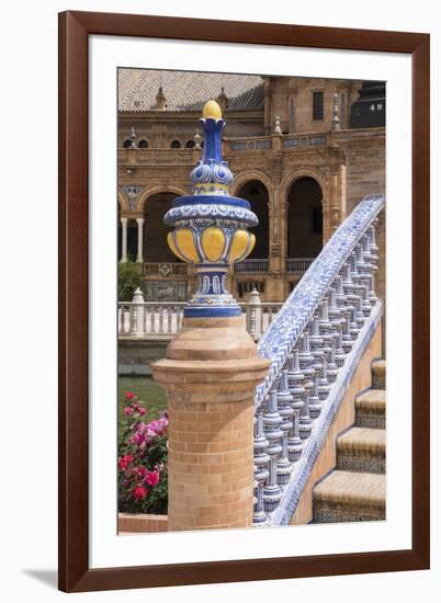
[[[185,318],[154,377],[169,401],[169,530],[247,527],[253,398],[269,362],[241,317]]]

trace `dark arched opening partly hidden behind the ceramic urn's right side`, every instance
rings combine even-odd
[[[259,180],[250,180],[240,187],[237,196],[249,201],[252,212],[259,219],[259,225],[251,228],[251,232],[256,235],[256,244],[248,259],[264,260],[269,257],[270,251],[269,194],[267,186]]]

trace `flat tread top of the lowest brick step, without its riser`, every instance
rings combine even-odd
[[[314,500],[385,507],[386,476],[335,470],[315,487]]]

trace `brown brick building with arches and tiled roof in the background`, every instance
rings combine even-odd
[[[370,94],[352,80],[121,69],[118,253],[142,263],[146,299],[185,300],[195,287],[191,265],[167,246],[163,216],[189,192],[206,100],[226,118],[231,194],[259,218],[256,248],[228,286],[238,299],[256,287],[283,302],[357,203],[385,193],[384,86]],[[382,248],[384,224],[378,235]],[[384,297],[382,265],[377,281]]]

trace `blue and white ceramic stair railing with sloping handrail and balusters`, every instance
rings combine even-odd
[[[374,275],[382,195],[365,197],[286,299],[258,349],[255,525],[290,523],[361,353],[382,316]]]

